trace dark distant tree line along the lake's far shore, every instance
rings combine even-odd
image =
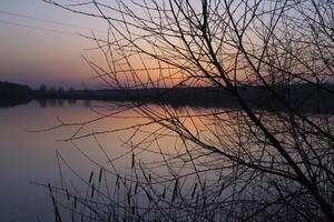
[[[286,110],[279,105],[277,98],[262,85],[238,85],[240,94],[246,98],[249,105],[259,110]],[[332,112],[334,101],[331,93],[334,84],[322,84],[326,90],[312,84],[294,84],[289,88],[289,101],[292,105],[303,112],[327,113]],[[275,84],[273,90],[285,98],[283,85]],[[200,97],[198,97],[200,94]],[[179,87],[159,89],[98,89],[87,88],[77,90],[75,88],[50,87],[41,84],[37,89],[28,85],[0,82],[1,101],[23,103],[30,100],[96,100],[96,101],[132,101],[140,103],[169,104],[171,107],[202,107],[202,108],[238,108],[237,101],[228,91],[217,87]],[[302,103],[299,101],[303,101]],[[43,101],[42,103],[46,103]],[[45,107],[45,105],[42,105]]]

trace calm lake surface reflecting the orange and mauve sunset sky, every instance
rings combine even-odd
[[[146,112],[147,118],[140,112]],[[295,143],[289,140],[298,138],[291,137],[284,129],[292,125],[282,121],[291,117],[279,111],[276,114],[258,111],[256,114],[297,159],[298,153],[293,150]],[[325,114],[308,118],[318,124],[333,121],[332,115]],[[193,216],[197,210],[206,213],[202,214],[208,221],[212,216],[220,221],[233,218],[228,213],[240,215],[239,212],[247,214],[262,209],[261,202],[269,202],[274,196],[268,194],[274,191],[271,188],[273,181],[282,182],[285,191],[295,189],[295,183],[276,180],[275,174],[253,176],[247,167],[235,165],[224,154],[217,154],[228,153],[253,162],[262,160],[264,167],[291,172],[263,133],[255,132],[245,113],[237,110],[170,109],[167,104],[151,104],[138,110],[128,109],[125,103],[53,100],[0,109],[0,176],[3,179],[0,214],[7,221],[55,220],[48,189],[30,182],[50,183],[53,189],[60,189],[63,195],[52,191],[53,198],[71,210],[79,204],[78,201],[102,209],[101,214],[114,211],[115,206],[120,210],[118,205],[122,204],[125,212],[120,214],[124,215],[129,213],[130,205],[136,204],[141,211],[157,205],[163,209],[170,206],[171,214],[179,213],[175,206],[183,205],[184,212],[190,212]],[[179,127],[180,132],[174,130],[175,125],[185,129]],[[39,132],[28,132],[35,130]],[[316,141],[316,148],[312,149],[321,149],[317,152],[332,158],[326,154],[327,141],[322,141],[317,134],[307,135]],[[200,137],[203,143],[191,143],[191,137],[193,140]],[[207,149],[203,149],[205,144],[208,144]],[[324,188],[326,185],[324,181]],[[151,196],[158,204],[153,204],[157,202]],[[240,196],[249,202],[243,200],[229,205],[229,198]],[[254,204],[257,198],[258,205]],[[96,205],[97,202],[107,204]],[[303,204],[313,202],[306,199]],[[294,215],[289,208],[283,206],[287,216]],[[275,212],[275,208],[268,209],[268,214]],[[318,209],[314,209],[317,214]],[[131,212],[136,210],[131,209]],[[84,212],[85,208],[80,208],[79,215]],[[146,216],[154,212],[148,211]]]

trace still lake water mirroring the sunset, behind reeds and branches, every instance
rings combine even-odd
[[[234,152],[234,148],[236,148],[234,141],[237,140],[223,140],[220,143],[220,139],[223,137],[238,139],[238,124],[243,120],[243,112],[227,109],[169,109],[168,107],[164,110],[163,107],[148,105],[154,114],[159,115],[160,120],[173,118],[173,115],[178,117],[178,120],[188,129],[185,134],[196,135],[198,132],[203,141],[217,148],[226,148],[232,153]],[[114,114],[109,115],[110,113]],[[271,124],[273,128],[282,127],[277,123],[276,115],[265,113],[267,114],[265,121],[271,121],[268,123],[273,123]],[[281,113],[281,115],[283,114]],[[328,121],[325,119],[326,115],[318,117],[314,115],[314,121]],[[191,143],[181,143],[181,139],[170,132],[171,130],[166,130],[156,123],[150,123],[150,121],[143,118],[138,110],[126,109],[124,103],[98,102],[88,104],[87,102],[75,103],[73,101],[33,101],[29,104],[0,109],[1,221],[55,221],[50,193],[47,188],[38,184],[50,183],[55,188],[66,188],[70,193],[80,193],[84,194],[84,198],[87,198],[90,195],[90,190],[88,190],[89,186],[85,181],[88,181],[91,172],[94,172],[92,183],[100,189],[98,175],[102,168],[106,172],[108,171],[108,176],[110,175],[108,180],[106,179],[108,189],[115,191],[115,188],[117,188],[117,173],[120,175],[127,174],[127,181],[132,180],[132,178],[129,178],[129,175],[134,176],[131,174],[132,152],[136,154],[136,168],[138,168],[138,162],[149,163],[149,171],[147,172],[153,175],[153,190],[157,192],[156,198],[159,198],[164,188],[167,186],[166,196],[168,200],[173,199],[173,188],[176,184],[173,174],[180,178],[178,181],[181,184],[180,192],[185,196],[185,199],[176,200],[176,205],[177,201],[180,200],[187,200],[186,203],[191,204],[195,202],[191,193],[195,183],[198,183],[199,180],[205,181],[206,188],[209,188],[207,190],[208,198],[214,198],[217,203],[220,199],[224,200],[235,192],[230,190],[234,184],[229,183],[229,179],[234,175],[234,165],[230,162],[222,155],[210,154],[205,149],[196,150],[197,147]],[[168,121],[174,122],[173,124],[177,123],[173,119]],[[238,124],[233,124],[234,121]],[[139,125],[141,127],[138,128]],[[214,130],[210,131],[210,129]],[[244,130],[245,135],[248,135],[247,129],[244,128]],[[132,137],[134,133],[136,137]],[[73,140],[67,141],[70,138]],[[244,138],[248,142],[248,137]],[[244,149],[254,151],[253,154],[256,155],[258,151],[256,150],[258,149],[256,143],[246,142],[243,143]],[[139,147],[136,147],[138,144]],[[189,161],[188,152],[185,152],[185,144],[188,145],[188,149],[194,149],[191,154],[196,164],[196,172],[203,172],[198,174],[202,179],[197,179],[195,176],[197,174],[194,174],[195,171],[191,161]],[[169,165],[166,165],[164,159],[161,159],[161,151],[164,157],[168,159]],[[266,152],[269,153],[272,150],[266,149]],[[111,160],[112,165],[110,164]],[[207,169],[209,171],[206,171]],[[236,169],[235,172],[237,171]],[[189,172],[193,172],[193,175],[188,176]],[[143,179],[143,175],[139,176]],[[247,178],[247,174],[245,174],[245,178]],[[166,186],[159,186],[163,184],[159,183],[159,180],[167,181],[164,184]],[[268,181],[271,180],[272,178],[268,175]],[[262,183],[263,179],[258,178],[258,181]],[[254,180],[254,186],[245,190],[246,194],[248,191],[250,193],[249,200],[254,198],[252,189],[255,188],[254,192],[257,192],[258,181]],[[128,184],[132,192],[134,184]],[[145,185],[145,183],[143,184]],[[101,191],[105,192],[106,190],[101,186]],[[207,191],[204,190],[203,194]],[[139,193],[141,195],[140,200],[137,196],[134,200],[140,206],[145,206],[147,204],[144,201],[145,199],[147,201],[146,193],[143,189],[139,192],[141,192]],[[202,191],[197,189],[196,192],[200,194]],[[216,199],[216,196],[219,198]],[[66,195],[61,198],[56,194],[56,198],[60,202],[62,200],[62,202],[67,202],[65,200]],[[126,205],[125,198],[127,198],[127,193],[120,190],[116,198],[115,195],[107,196],[106,203],[109,203],[110,200],[119,201],[121,199],[120,202]],[[101,200],[99,199],[99,201]],[[73,198],[70,201],[72,203]],[[105,206],[107,208],[108,204],[105,204]],[[216,209],[214,204],[212,206]],[[197,212],[196,208],[193,208],[195,214]],[[255,210],[256,208],[254,206]],[[222,209],[224,210],[225,206]],[[222,209],[217,208],[217,211],[222,214],[222,218],[217,218],[217,221],[222,221],[220,219],[224,219],[225,215],[228,216]],[[235,209],[233,208],[232,212]],[[177,213],[177,210],[175,212]],[[206,212],[209,213],[212,210],[208,209]],[[218,214],[218,216],[220,215]],[[63,221],[70,221],[66,216],[62,219],[65,219]]]

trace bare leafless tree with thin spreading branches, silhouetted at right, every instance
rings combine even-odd
[[[105,58],[104,64],[88,63],[108,85],[124,93],[210,85],[237,102],[238,110],[197,114],[134,102],[149,123],[135,125],[130,139],[149,124],[160,125],[131,148],[139,152],[155,141],[164,157],[137,162],[143,193],[161,216],[175,219],[165,215],[168,206],[188,220],[210,221],[220,213],[235,221],[334,221],[333,115],[303,112],[305,104],[324,109],[322,101],[293,90],[308,84],[313,93],[334,99],[324,84],[334,77],[333,1],[46,1],[109,24],[106,39],[87,37]],[[258,109],[261,103],[272,111]],[[175,153],[159,147],[166,137],[178,141]],[[169,176],[151,179],[161,165]],[[193,192],[181,190],[186,179],[195,181]]]

